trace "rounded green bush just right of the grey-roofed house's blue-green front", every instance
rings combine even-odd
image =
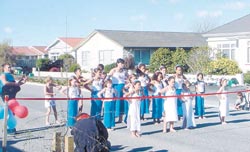
[[[161,65],[171,67],[173,64],[171,59],[172,52],[168,48],[159,48],[151,55],[149,70],[158,70]]]

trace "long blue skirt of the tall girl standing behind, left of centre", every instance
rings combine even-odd
[[[123,97],[123,87],[124,84],[113,84],[113,88],[116,90],[118,98]],[[128,106],[126,108],[128,108]],[[115,116],[119,117],[120,115],[123,115],[126,110],[124,100],[117,99],[115,101]]]

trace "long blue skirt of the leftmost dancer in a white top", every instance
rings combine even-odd
[[[77,116],[77,108],[78,108],[78,101],[77,100],[68,100],[68,115],[67,115],[67,126],[72,127],[76,123],[76,116]]]

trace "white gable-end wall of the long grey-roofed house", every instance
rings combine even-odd
[[[82,69],[87,71],[97,67],[99,63],[104,65],[111,64],[116,62],[117,58],[124,57],[123,46],[117,44],[98,32],[76,51],[77,63]],[[108,53],[108,56],[105,56],[104,60],[102,60],[103,57],[101,56],[103,56],[103,53],[100,52],[105,51],[107,51],[106,53]],[[111,54],[110,51],[112,52]]]

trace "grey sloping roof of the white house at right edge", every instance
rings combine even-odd
[[[250,14],[208,31],[206,34],[250,32]]]

